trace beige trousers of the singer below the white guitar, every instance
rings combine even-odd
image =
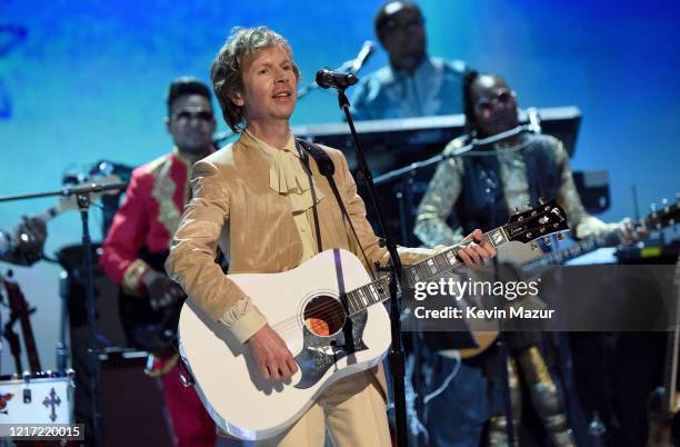
[[[384,397],[376,375],[363,371],[328,388],[288,430],[257,447],[323,447],[326,430],[336,447],[390,447]]]

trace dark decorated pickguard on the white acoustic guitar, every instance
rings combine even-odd
[[[317,336],[303,326],[302,350],[296,356],[302,377],[294,387],[307,389],[313,386],[338,360],[368,349],[362,340],[367,318],[366,310],[348,318],[342,329],[330,337]]]

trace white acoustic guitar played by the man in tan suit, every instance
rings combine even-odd
[[[568,229],[554,202],[512,216],[483,235],[494,246],[530,242]],[[404,267],[407,285],[458,270],[450,248]],[[290,427],[329,385],[378,365],[390,347],[383,306],[386,277],[371,281],[362,264],[346,250],[323,251],[281,274],[230,275],[286,341],[299,366],[288,384],[261,378],[248,346],[209,318],[191,299],[179,321],[180,354],[199,396],[216,424],[241,439],[262,439]]]

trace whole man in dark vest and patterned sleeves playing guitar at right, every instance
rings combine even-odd
[[[452,140],[444,153],[456,152],[472,139],[497,136],[519,125],[516,93],[499,76],[474,71],[467,73],[462,97],[466,135]],[[578,239],[609,234],[618,228],[623,229],[627,241],[638,237],[626,221],[604,224],[588,215],[574,187],[562,142],[551,136],[533,133],[519,133],[440,162],[419,206],[414,234],[428,246],[456,244],[466,227],[498,227],[509,219],[514,209],[523,208],[527,202],[536,203],[539,197],[554,198],[566,209],[569,225]],[[452,226],[449,222],[453,222]],[[520,419],[520,370],[532,406],[552,445],[573,446],[557,377],[550,372],[538,348],[539,337],[540,334],[536,332],[506,335],[510,349],[508,372],[516,434]],[[470,360],[463,360],[447,393],[439,400],[432,400],[431,415],[444,408],[466,408],[466,411],[456,411],[454,415],[449,413],[449,417],[457,420],[454,425],[428,424],[431,427],[430,436],[437,445],[477,445],[486,420],[489,421],[489,444],[507,445],[507,420],[499,395],[500,378],[503,376],[497,355],[498,351],[491,348]],[[442,356],[438,356],[437,361],[441,368],[436,371],[440,377],[433,378],[434,384],[458,367]],[[471,394],[470,389],[481,393]],[[450,405],[453,401],[456,406]],[[444,407],[439,408],[442,405]],[[472,414],[471,408],[476,408],[477,413]],[[470,444],[463,439],[469,439]]]

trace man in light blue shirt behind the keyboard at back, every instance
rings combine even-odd
[[[388,1],[378,10],[373,24],[390,63],[354,88],[354,119],[460,113],[466,64],[428,56],[424,19],[418,6]]]

